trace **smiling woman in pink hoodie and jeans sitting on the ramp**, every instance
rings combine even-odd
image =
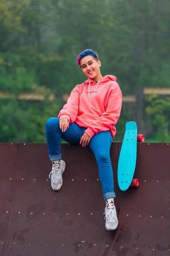
[[[122,93],[115,76],[102,76],[101,62],[92,49],[87,49],[77,57],[77,64],[88,79],[78,84],[58,118],[46,122],[45,132],[52,161],[51,186],[59,190],[65,162],[60,151],[61,138],[68,143],[89,145],[96,157],[102,185],[105,207],[105,227],[115,230],[118,226],[114,198],[113,170],[110,148],[116,134],[116,122],[122,107]]]

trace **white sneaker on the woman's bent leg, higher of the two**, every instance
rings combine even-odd
[[[51,187],[54,190],[59,190],[62,187],[62,174],[65,171],[65,162],[61,160],[60,162],[60,168],[58,170],[52,169],[52,171],[49,174],[49,178],[51,179]]]

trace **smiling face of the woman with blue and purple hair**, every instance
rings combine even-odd
[[[88,55],[81,59],[80,67],[85,76],[95,81],[100,75],[101,62],[96,61],[92,55]]]

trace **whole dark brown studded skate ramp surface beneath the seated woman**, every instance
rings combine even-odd
[[[138,144],[140,186],[125,192],[117,184],[120,148],[121,143],[111,147],[119,218],[111,232],[105,229],[105,201],[90,148],[62,144],[66,169],[55,192],[46,144],[0,144],[0,255],[169,256],[170,146]]]

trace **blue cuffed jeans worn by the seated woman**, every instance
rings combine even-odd
[[[80,138],[86,128],[79,127],[75,122],[69,124],[67,130],[62,132],[59,128],[59,118],[51,117],[46,122],[45,134],[48,144],[50,160],[62,159],[61,138],[71,144],[79,144]],[[113,185],[113,170],[111,166],[110,148],[112,137],[110,131],[103,131],[91,138],[89,146],[96,157],[99,168],[99,178],[102,184],[104,199],[115,198]]]

